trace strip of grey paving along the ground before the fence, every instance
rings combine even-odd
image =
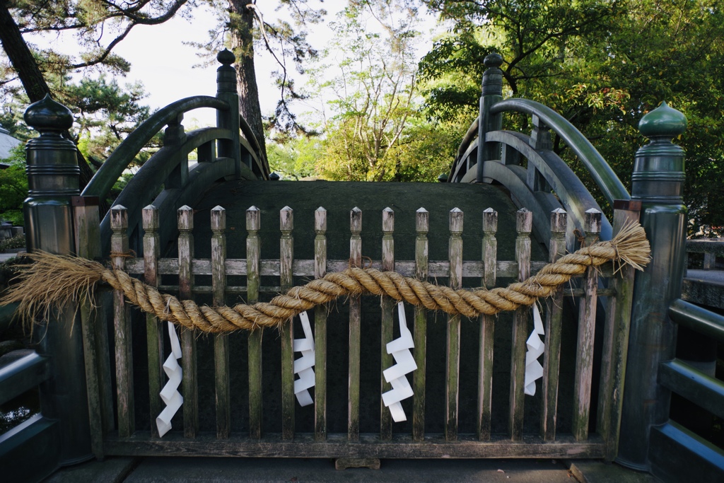
[[[648,474],[599,461],[383,460],[379,470],[334,469],[328,459],[106,458],[64,468],[46,483],[505,482],[655,483]]]

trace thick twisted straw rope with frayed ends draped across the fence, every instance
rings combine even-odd
[[[395,301],[470,318],[479,314],[493,315],[530,306],[536,298],[552,295],[556,287],[568,282],[573,275],[583,274],[589,266],[613,261],[642,270],[649,262],[650,248],[641,225],[626,224],[613,240],[594,243],[565,255],[528,280],[508,287],[452,290],[395,272],[348,268],[292,287],[269,303],[240,303],[233,307],[198,306],[193,301],[180,301],[173,295],[159,293],[155,287],[121,270],[107,269],[95,261],[50,253],[30,253],[28,256],[35,263],[23,271],[20,283],[14,285],[1,301],[3,305],[20,302],[19,310],[23,315],[47,315],[51,306],[88,299],[93,285],[103,281],[122,291],[141,310],[155,314],[161,320],[202,332],[232,332],[279,327],[302,311],[345,295],[387,295]]]

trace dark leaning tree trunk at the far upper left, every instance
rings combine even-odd
[[[46,94],[49,94],[50,88],[45,77],[43,77],[43,72],[38,67],[38,63],[35,62],[28,44],[22,38],[20,28],[12,18],[6,0],[0,0],[0,43],[10,59],[13,70],[20,77],[22,88],[28,94],[30,102],[40,101]],[[65,131],[62,135],[64,138],[72,140],[68,131]],[[77,159],[80,167],[80,190],[82,191],[85,185],[88,185],[90,178],[93,177],[93,170],[90,169],[88,162],[85,161],[80,151],[77,151]]]

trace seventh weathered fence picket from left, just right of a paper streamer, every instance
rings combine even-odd
[[[327,274],[327,210],[314,211],[314,278]],[[314,440],[327,439],[327,307],[314,308]]]

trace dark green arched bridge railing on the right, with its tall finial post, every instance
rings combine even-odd
[[[572,251],[576,243],[573,230],[584,231],[584,213],[602,209],[565,161],[552,151],[550,130],[581,159],[611,206],[613,201],[628,200],[630,196],[589,140],[560,114],[526,99],[503,101],[499,68],[502,59],[491,54],[485,62],[489,68],[483,75],[480,114],[463,137],[447,181],[500,182],[510,190],[518,206],[534,211],[534,232],[541,240],[550,238],[547,214],[565,209],[573,222],[566,236],[567,248]],[[530,114],[534,126],[531,135],[502,130],[504,112]],[[527,160],[527,168],[521,166],[522,159]],[[612,236],[606,217],[600,236],[603,240]]]

